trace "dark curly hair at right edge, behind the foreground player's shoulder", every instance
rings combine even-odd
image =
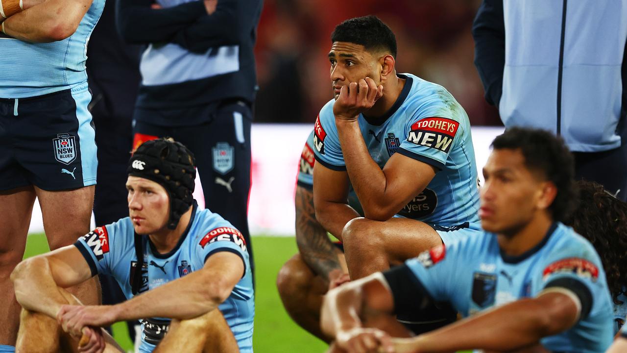
[[[624,293],[627,274],[627,204],[607,192],[602,185],[586,180],[577,182],[579,207],[564,224],[586,237],[601,256],[614,303]]]

